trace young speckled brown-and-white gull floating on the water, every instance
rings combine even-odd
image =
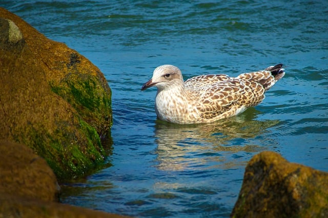
[[[183,82],[178,67],[161,65],[141,90],[157,87],[155,111],[161,120],[175,124],[211,123],[258,105],[264,92],[284,75],[282,64],[277,64],[238,77],[201,75]]]

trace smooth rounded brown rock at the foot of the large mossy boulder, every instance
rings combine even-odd
[[[47,162],[24,144],[0,140],[0,196],[58,201],[59,185]],[[1,211],[1,209],[0,209]]]

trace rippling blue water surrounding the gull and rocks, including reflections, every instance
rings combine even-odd
[[[328,172],[326,1],[1,1],[98,66],[113,92],[108,168],[64,184],[61,201],[139,217],[228,217],[244,167],[264,150]],[[214,124],[156,121],[161,64],[186,78],[263,69],[286,75],[267,98]]]

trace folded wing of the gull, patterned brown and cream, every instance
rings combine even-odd
[[[206,76],[210,78],[206,78]],[[199,77],[202,81],[208,80],[207,83],[201,82],[202,85],[198,85],[198,82],[195,81],[194,84],[196,85],[190,88],[190,90],[194,90],[194,98],[198,96],[199,105],[197,109],[203,119],[233,116],[248,107],[259,104],[264,99],[265,90],[263,86],[252,80],[256,75],[245,74],[241,78],[227,75],[219,75],[218,78],[215,78],[216,75],[206,76]],[[266,78],[266,76],[256,76],[256,78],[260,77]]]

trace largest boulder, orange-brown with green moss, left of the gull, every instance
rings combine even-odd
[[[0,8],[0,139],[31,148],[59,180],[102,163],[106,152],[99,134],[111,125],[110,89],[95,68]],[[99,115],[103,110],[105,117]]]

